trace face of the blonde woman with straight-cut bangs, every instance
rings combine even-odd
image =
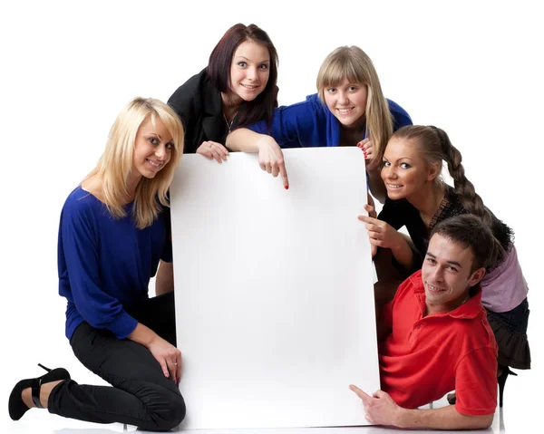
[[[364,124],[368,96],[365,84],[345,79],[344,82],[325,89],[324,93],[326,106],[342,125],[351,129]]]

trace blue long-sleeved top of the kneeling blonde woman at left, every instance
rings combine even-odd
[[[124,339],[138,323],[125,312],[148,298],[159,259],[171,262],[170,209],[151,227],[131,217],[114,219],[106,206],[81,187],[64,202],[59,227],[59,294],[68,299],[66,337],[86,321]]]

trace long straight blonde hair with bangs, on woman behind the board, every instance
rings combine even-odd
[[[374,142],[374,159],[383,158],[387,141],[393,134],[393,117],[385,100],[378,74],[370,57],[359,47],[343,46],[326,56],[317,74],[317,92],[325,104],[325,89],[337,86],[347,79],[349,82],[364,84],[367,88],[366,137]]]

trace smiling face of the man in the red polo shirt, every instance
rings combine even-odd
[[[450,312],[467,300],[471,286],[485,275],[485,268],[471,270],[472,260],[471,248],[432,236],[422,267],[427,313]]]

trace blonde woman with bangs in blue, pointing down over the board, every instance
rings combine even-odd
[[[364,151],[370,190],[384,201],[379,165],[385,145],[394,130],[412,125],[412,119],[384,97],[374,64],[359,47],[343,46],[330,53],[316,84],[317,93],[306,101],[277,108],[270,128],[258,122],[232,131],[228,148],[258,152],[261,169],[281,175],[288,188],[281,148],[356,145]]]

